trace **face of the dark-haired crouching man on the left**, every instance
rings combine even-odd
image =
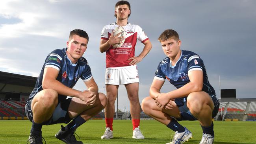
[[[73,35],[72,38],[67,41],[67,55],[72,63],[76,63],[80,57],[83,56],[87,48],[88,40],[78,35]]]

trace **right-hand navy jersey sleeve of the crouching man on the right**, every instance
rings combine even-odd
[[[187,65],[187,70],[189,72],[193,70],[201,70],[203,71],[203,61],[200,59],[198,55],[192,55],[187,59],[188,65]]]

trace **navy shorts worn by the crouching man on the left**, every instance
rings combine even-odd
[[[71,102],[72,98],[67,98],[65,100],[59,101],[57,107],[55,108],[52,117],[44,122],[44,125],[51,125],[51,124],[59,124],[59,123],[69,123],[70,118],[69,114],[67,113],[69,104]],[[28,100],[25,105],[25,113],[27,118],[32,122],[33,120],[33,113],[31,110],[31,102],[32,100]]]

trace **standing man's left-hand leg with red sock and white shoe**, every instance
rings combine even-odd
[[[101,139],[113,138],[113,116],[115,113],[115,100],[119,85],[106,85],[108,104],[105,107],[106,131]]]

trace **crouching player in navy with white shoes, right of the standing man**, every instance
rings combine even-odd
[[[198,120],[203,135],[200,144],[213,144],[212,118],[219,110],[219,100],[210,85],[204,63],[191,51],[180,50],[181,41],[174,30],[165,30],[158,38],[167,57],[160,61],[142,109],[155,120],[175,131],[167,144],[182,144],[192,133],[180,125],[180,120]],[[177,89],[161,93],[165,79]]]

